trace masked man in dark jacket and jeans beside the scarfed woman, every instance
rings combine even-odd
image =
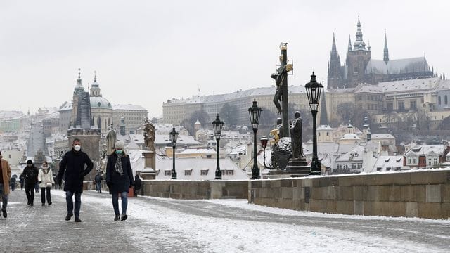
[[[68,215],[65,220],[69,221],[75,213],[75,222],[81,222],[79,219],[79,209],[82,205],[83,179],[89,174],[94,164],[89,156],[82,150],[82,143],[75,138],[72,143],[72,150],[65,153],[60,162],[57,181],[61,185],[63,174],[65,174],[64,191],[65,202],[68,205]],[[86,169],[84,167],[86,166]],[[75,194],[75,209],[73,205],[73,195]]]

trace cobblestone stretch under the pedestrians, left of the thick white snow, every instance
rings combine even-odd
[[[65,221],[65,197],[58,191],[52,191],[51,206],[41,206],[39,193],[33,207],[27,206],[25,190],[11,192],[8,218],[0,217],[0,252],[200,252],[184,235],[139,219],[113,221],[112,205],[83,201],[84,195],[110,198],[108,193],[84,192],[82,222],[75,223],[73,217]],[[139,233],[141,238],[131,238]]]

